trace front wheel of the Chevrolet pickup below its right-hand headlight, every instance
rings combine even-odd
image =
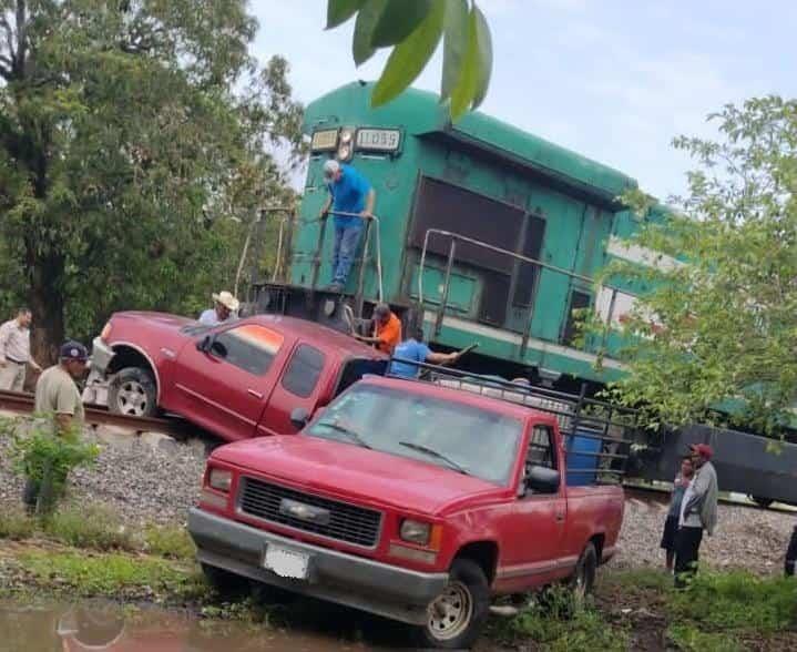
[[[469,649],[479,638],[490,610],[490,585],[482,568],[456,559],[449,583],[428,609],[427,624],[416,629],[420,648]]]

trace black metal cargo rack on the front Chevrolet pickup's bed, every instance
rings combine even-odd
[[[416,360],[394,357],[391,361],[411,365],[419,371],[415,380],[392,377],[470,391],[553,415],[569,462],[579,462],[565,469],[569,478],[579,478],[569,479],[570,485],[617,483],[626,475],[631,447],[638,441],[641,429],[637,410],[587,397],[585,386],[575,395]],[[391,376],[389,370],[387,375]]]

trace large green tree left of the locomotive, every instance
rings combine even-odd
[[[0,300],[41,358],[114,309],[195,309],[290,200],[268,152],[298,154],[302,108],[256,29],[245,0],[0,0]]]

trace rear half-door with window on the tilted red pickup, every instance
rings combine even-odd
[[[260,417],[260,430],[296,432],[296,427],[290,422],[290,412],[296,408],[305,408],[311,415],[319,403],[328,401],[333,366],[329,356],[310,344],[299,342],[274,386]]]

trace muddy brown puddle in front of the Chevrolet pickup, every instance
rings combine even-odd
[[[290,624],[253,625],[104,602],[21,604],[0,600],[2,652],[359,652],[407,649],[391,623],[308,604]],[[293,610],[292,610],[293,611]],[[304,617],[304,618],[303,618]]]

